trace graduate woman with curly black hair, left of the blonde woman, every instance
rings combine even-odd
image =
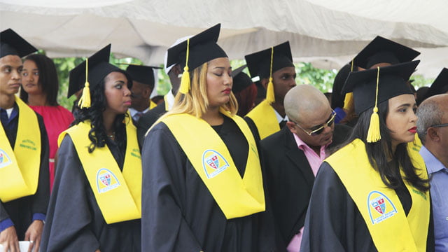
[[[110,50],[70,72],[69,95],[88,81],[73,126],[59,136],[42,251],[141,250],[141,158],[126,113],[132,80],[109,64]]]

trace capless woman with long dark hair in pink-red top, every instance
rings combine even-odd
[[[45,55],[29,55],[23,62],[20,99],[43,117],[50,144],[50,190],[55,180],[57,137],[73,122],[73,115],[57,104],[59,81],[55,63]]]

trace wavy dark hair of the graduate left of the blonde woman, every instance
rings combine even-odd
[[[125,74],[128,81],[128,88],[131,89],[132,79],[130,76],[123,70],[117,70],[117,72]],[[78,104],[76,104],[78,113],[74,115],[75,120],[71,124],[71,126],[73,126],[85,120],[90,120],[92,129],[89,132],[89,139],[91,142],[88,147],[89,153],[92,153],[97,147],[104,147],[106,139],[108,139],[106,128],[104,128],[103,125],[103,112],[106,110],[107,104],[106,95],[104,94],[105,79],[106,78],[104,78],[98,85],[95,85],[94,88],[90,88],[90,108],[80,109]],[[126,127],[124,122],[130,123],[130,118],[127,113],[116,116],[113,121],[116,142],[119,144],[120,148],[123,148],[125,145]]]

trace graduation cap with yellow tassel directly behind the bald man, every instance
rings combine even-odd
[[[289,41],[246,55],[244,58],[246,59],[249,73],[251,73],[252,78],[255,76],[259,76],[260,79],[269,78],[266,100],[269,104],[275,102],[272,73],[287,66],[294,66]]]

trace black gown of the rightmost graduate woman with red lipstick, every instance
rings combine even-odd
[[[404,188],[395,192],[405,214],[409,214],[409,191]],[[327,162],[323,162],[314,181],[300,251],[377,251],[358,207]],[[434,251],[432,214],[426,251]]]

